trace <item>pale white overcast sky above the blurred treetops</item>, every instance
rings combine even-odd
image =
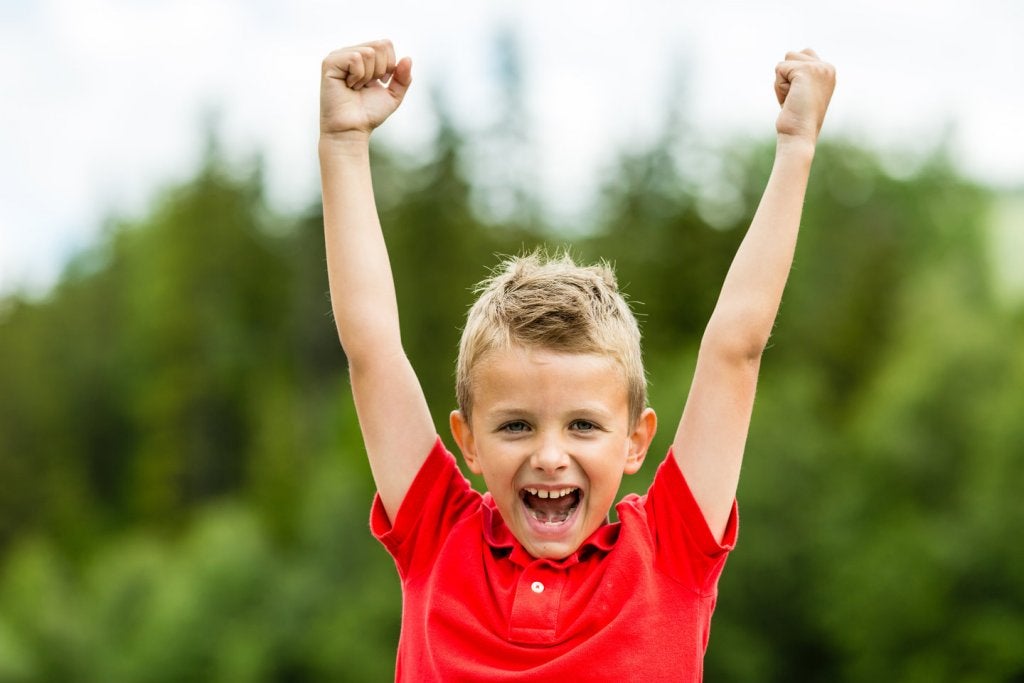
[[[278,208],[314,202],[333,48],[390,37],[413,56],[385,141],[423,147],[435,87],[486,127],[503,23],[523,47],[536,178],[564,215],[660,130],[667,101],[710,139],[771,135],[772,70],[806,46],[838,71],[824,135],[920,148],[951,131],[970,175],[1024,185],[1018,0],[0,0],[0,294],[44,291],[104,217],[190,177],[211,110],[232,159],[263,153]]]

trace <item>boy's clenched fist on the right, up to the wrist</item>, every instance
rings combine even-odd
[[[814,50],[786,52],[775,66],[775,96],[782,111],[775,121],[779,135],[814,143],[836,87],[836,69]]]

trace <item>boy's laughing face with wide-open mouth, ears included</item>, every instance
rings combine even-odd
[[[626,381],[603,355],[514,347],[473,370],[472,420],[452,414],[470,470],[534,557],[571,555],[607,518],[623,474],[654,436],[649,409],[630,424]]]

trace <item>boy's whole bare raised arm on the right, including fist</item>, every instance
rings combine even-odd
[[[814,147],[835,83],[833,67],[812,50],[790,52],[775,68],[782,108],[775,163],[705,330],[673,442],[717,539],[736,495],[761,354],[793,263]]]

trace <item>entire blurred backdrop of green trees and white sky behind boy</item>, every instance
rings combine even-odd
[[[473,285],[568,245],[635,303],[658,455],[774,63],[837,65],[707,680],[1024,681],[1022,31],[996,0],[0,2],[0,681],[393,677],[315,155],[319,60],[380,36],[415,59],[375,181],[439,432]]]

